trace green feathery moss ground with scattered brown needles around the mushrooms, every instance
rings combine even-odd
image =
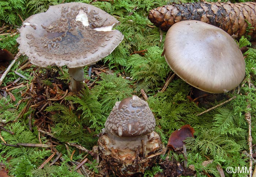
[[[71,1],[0,1],[0,47],[17,54],[16,32],[21,19],[46,11],[49,5]],[[138,175],[166,176],[165,164],[179,163],[183,168],[184,161],[197,176],[220,176],[218,168],[223,169],[225,176],[248,175],[227,173],[226,169],[249,169],[249,132],[255,153],[256,50],[250,43],[244,38],[239,42],[240,47],[249,47],[244,54],[246,76],[240,87],[191,101],[189,98],[195,99],[199,92],[183,80],[175,76],[166,84],[173,74],[161,56],[166,33],[147,19],[150,9],[172,2],[79,2],[95,5],[116,17],[120,21],[117,29],[124,34],[124,40],[112,54],[92,66],[91,77],[89,67],[84,68],[86,87],[79,95],[68,91],[67,67],[40,68],[30,64],[26,56],[18,58],[0,86],[1,167],[15,177],[106,176],[94,156],[97,135],[116,101],[138,95],[147,99],[156,118],[156,131],[165,145],[170,134],[182,125],[189,124],[195,129],[195,138],[186,140],[187,158],[183,153],[170,151],[162,157],[162,162]],[[9,64],[0,63],[0,76]],[[234,99],[198,115],[229,98]],[[246,118],[251,121],[251,129]],[[38,147],[31,147],[35,144]],[[75,169],[85,158],[88,161]],[[47,159],[50,161],[42,168]],[[211,163],[204,165],[206,161]],[[253,161],[252,169],[254,166]],[[177,169],[180,168],[167,170],[169,176],[176,174]]]

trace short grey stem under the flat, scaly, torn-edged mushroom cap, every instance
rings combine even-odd
[[[84,87],[84,85],[83,85],[83,77],[84,77],[83,67],[68,68],[68,73],[69,73],[69,77],[70,77],[71,91],[74,93],[78,93]]]

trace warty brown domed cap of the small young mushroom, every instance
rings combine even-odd
[[[116,102],[105,123],[108,133],[118,137],[138,137],[155,129],[155,117],[146,101],[133,95]]]

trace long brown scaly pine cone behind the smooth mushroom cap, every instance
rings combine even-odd
[[[174,23],[182,20],[200,20],[221,28],[229,35],[235,35],[237,39],[246,33],[256,39],[255,2],[165,5],[152,9],[148,19],[163,31],[168,31]],[[246,31],[248,23],[252,25],[249,32]]]

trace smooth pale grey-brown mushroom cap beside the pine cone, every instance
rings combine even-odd
[[[170,68],[200,90],[223,93],[244,79],[242,52],[221,28],[196,20],[178,22],[167,31],[164,49]]]

